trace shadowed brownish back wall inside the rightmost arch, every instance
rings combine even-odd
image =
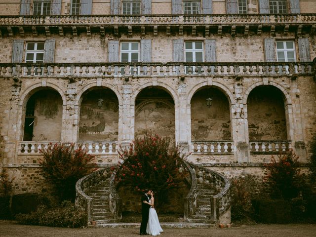
[[[274,86],[254,88],[247,100],[249,140],[286,140],[281,91]]]

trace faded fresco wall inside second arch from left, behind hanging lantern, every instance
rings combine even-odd
[[[103,99],[102,107],[97,105]],[[110,89],[85,93],[80,106],[80,141],[118,140],[118,98]]]

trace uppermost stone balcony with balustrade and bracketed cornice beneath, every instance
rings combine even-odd
[[[74,37],[84,32],[119,36],[121,33],[151,33],[154,36],[161,32],[171,35],[190,32],[195,36],[201,32],[206,37],[210,34],[230,34],[247,36],[269,32],[286,35],[295,32],[297,36],[315,33],[316,14],[244,14],[244,15],[86,15],[86,16],[0,16],[0,34],[5,37],[71,33]]]

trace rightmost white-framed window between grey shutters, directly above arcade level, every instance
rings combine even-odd
[[[276,41],[276,57],[278,62],[295,62],[294,41]]]

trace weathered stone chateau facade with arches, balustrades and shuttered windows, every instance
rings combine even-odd
[[[41,191],[50,142],[105,167],[157,133],[231,178],[316,135],[316,0],[0,0],[0,45],[15,194]]]

